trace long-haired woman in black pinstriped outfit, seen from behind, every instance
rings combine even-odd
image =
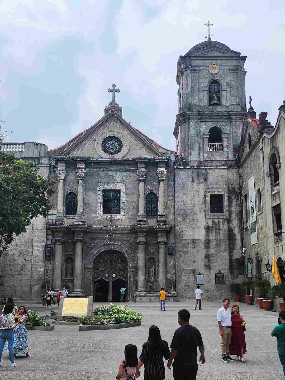
[[[163,356],[169,359],[170,351],[166,340],[162,340],[157,326],[150,326],[147,342],[142,345],[137,369],[144,364],[144,380],[165,379]]]

